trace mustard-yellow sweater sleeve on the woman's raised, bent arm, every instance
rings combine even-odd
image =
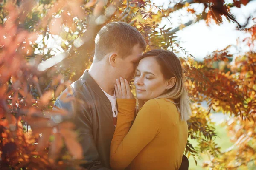
[[[116,130],[111,142],[110,165],[113,170],[128,167],[140,151],[157,135],[160,128],[160,107],[151,99],[143,105],[137,117],[128,111],[125,104],[118,101],[119,113]]]

